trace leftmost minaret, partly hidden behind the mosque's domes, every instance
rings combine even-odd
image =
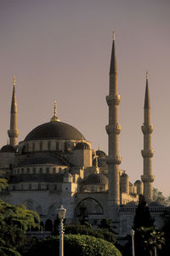
[[[10,112],[10,130],[8,130],[9,144],[15,146],[17,144],[17,137],[19,136],[19,130],[17,130],[17,106],[15,95],[15,76],[14,76],[14,88],[11,102]]]

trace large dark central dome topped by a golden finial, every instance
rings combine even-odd
[[[48,122],[38,125],[25,138],[25,141],[43,140],[43,139],[85,139],[82,133],[71,125],[62,122]]]

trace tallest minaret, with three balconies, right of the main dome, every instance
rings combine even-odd
[[[109,125],[105,126],[108,134],[109,147],[106,162],[109,166],[109,202],[108,215],[109,218],[118,218],[118,206],[120,204],[120,181],[119,181],[119,165],[122,157],[119,154],[119,134],[121,125],[118,125],[118,106],[121,97],[117,94],[117,66],[116,66],[116,49],[115,49],[115,31],[113,32],[113,43],[111,52],[110,67],[110,92],[106,96],[106,102],[109,107]]]

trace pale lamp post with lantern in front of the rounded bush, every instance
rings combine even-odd
[[[60,208],[57,209],[57,215],[59,217],[59,256],[64,256],[64,225],[63,220],[65,218],[66,209],[61,205]]]

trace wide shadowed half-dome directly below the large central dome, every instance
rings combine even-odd
[[[49,153],[36,153],[31,157],[27,157],[23,160],[20,166],[32,166],[32,165],[55,165],[55,166],[65,166],[65,164],[59,160],[56,156]]]

